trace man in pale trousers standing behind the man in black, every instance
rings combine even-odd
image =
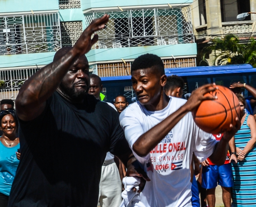
[[[90,75],[90,88],[88,94],[93,95],[100,100],[100,92],[103,88],[101,79],[95,74]],[[112,103],[106,102],[112,108]],[[118,170],[118,168],[120,170]],[[124,174],[122,170],[122,162],[107,152],[104,164],[101,168],[101,178],[99,183],[99,203],[101,207],[119,207],[122,202],[122,182]]]

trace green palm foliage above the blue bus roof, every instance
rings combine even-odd
[[[213,51],[213,65],[251,64],[256,68],[256,41],[251,38],[247,44],[239,43],[239,39],[229,34],[223,39],[215,38],[212,45],[201,51],[200,65],[208,63],[206,57]]]

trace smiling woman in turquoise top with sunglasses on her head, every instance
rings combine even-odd
[[[19,138],[16,137],[17,119],[14,110],[0,112],[0,207],[7,207],[11,185],[14,180],[19,160]]]

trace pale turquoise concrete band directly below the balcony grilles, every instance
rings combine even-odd
[[[89,62],[135,59],[145,53],[160,57],[196,55],[196,43],[178,45],[159,45],[130,48],[111,48],[90,50],[86,56]],[[30,53],[19,55],[1,55],[0,69],[6,67],[39,66],[52,62],[55,52]]]

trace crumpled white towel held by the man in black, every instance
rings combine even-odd
[[[122,198],[123,201],[120,205],[120,207],[127,207],[129,203],[131,202],[132,198],[139,194],[139,184],[140,184],[140,178],[139,177],[124,177],[123,178],[123,184],[124,184],[124,191],[122,192]],[[136,188],[136,192],[133,191],[132,188]]]

